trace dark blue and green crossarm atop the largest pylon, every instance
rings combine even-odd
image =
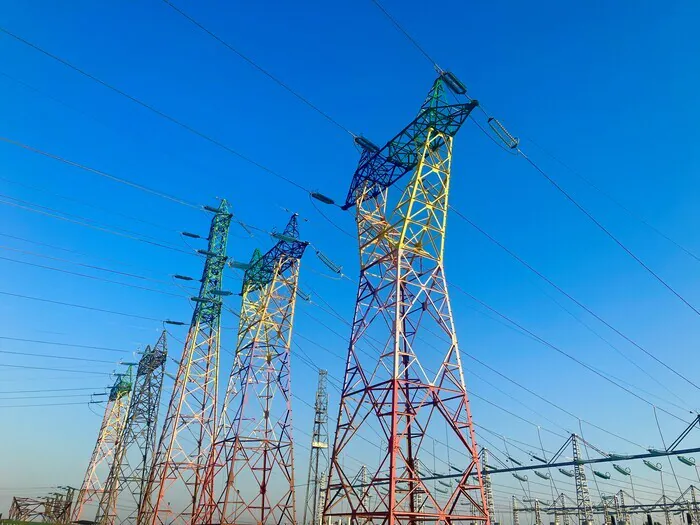
[[[479,103],[469,100],[450,104],[445,98],[443,83],[442,77],[435,81],[418,116],[384,147],[378,149],[362,138],[356,141],[363,148],[363,153],[342,206],[344,210],[355,206],[360,195],[364,198],[375,197],[413,170],[428,130],[434,129],[451,137],[457,134]]]

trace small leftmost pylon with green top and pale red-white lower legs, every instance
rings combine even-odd
[[[109,391],[102,425],[97,435],[97,443],[85,472],[83,484],[78,491],[78,499],[73,507],[72,521],[80,520],[85,506],[96,498],[99,501],[99,498],[104,496],[103,493],[111,489],[106,482],[113,464],[118,460],[122,432],[129,408],[132,387],[131,375],[131,366],[129,366],[125,374],[117,374],[114,385]]]

